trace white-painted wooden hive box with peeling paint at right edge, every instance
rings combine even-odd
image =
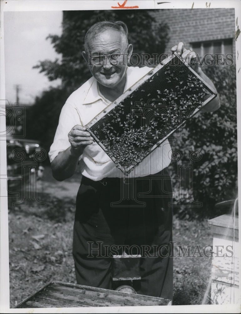
[[[214,304],[239,304],[238,216],[208,220],[213,231],[211,299]]]

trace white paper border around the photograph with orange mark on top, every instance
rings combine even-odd
[[[4,12],[6,11],[63,11],[63,10],[110,10],[111,6],[123,3],[118,0],[1,0],[1,28],[0,28],[0,45],[1,45],[1,78],[0,78],[0,100],[5,100],[5,60],[4,60]],[[158,4],[160,3],[160,4]],[[235,8],[235,29],[237,25],[241,26],[241,2],[236,1],[218,1],[210,0],[210,8]],[[139,6],[139,9],[178,9],[178,8],[207,8],[207,1],[172,1],[163,2],[155,0],[128,0],[129,6]],[[208,8],[207,8],[208,9]],[[238,52],[239,51],[239,52]],[[236,84],[241,86],[241,35],[236,41]],[[237,117],[241,117],[241,89],[237,88]],[[239,119],[238,119],[239,120]],[[1,131],[6,129],[5,117],[0,116]],[[238,192],[241,195],[241,126],[238,121]],[[6,139],[0,141],[0,173],[6,174],[7,157],[6,157]],[[8,198],[7,198],[7,180],[0,181],[0,312],[1,313],[25,313],[24,309],[9,308],[9,255],[8,255]],[[239,200],[239,222],[241,214],[241,201]],[[240,225],[240,224],[239,224]],[[239,239],[241,239],[241,228],[239,228]],[[241,261],[241,250],[239,252],[239,261]],[[240,265],[240,263],[239,263]],[[241,267],[239,268],[239,279],[241,278]],[[241,295],[241,284],[239,285]],[[30,313],[239,313],[240,305],[200,305],[200,306],[167,306],[167,307],[98,307],[98,308],[48,308],[48,309],[28,309]]]

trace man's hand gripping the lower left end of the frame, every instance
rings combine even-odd
[[[86,127],[75,125],[68,134],[71,145],[70,152],[73,155],[81,155],[87,145],[93,144],[93,138],[86,130]]]

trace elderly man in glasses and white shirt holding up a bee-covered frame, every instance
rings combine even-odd
[[[127,66],[133,49],[127,36],[126,24],[121,21],[98,22],[87,31],[82,54],[92,77],[74,91],[63,106],[49,157],[56,180],[71,177],[78,163],[82,173],[73,238],[77,283],[112,289],[110,257],[113,247],[117,253],[123,253],[118,251],[120,247],[127,253],[131,246],[145,247],[148,248],[145,254],[141,251],[141,280],[133,281],[133,287],[139,294],[172,299],[169,245],[172,241],[172,208],[169,206],[172,187],[167,172],[171,147],[168,140],[135,168],[134,177],[127,182],[135,184],[135,197],[118,207],[115,204],[121,200],[125,179],[85,128],[100,111],[150,71],[148,67]],[[172,50],[184,58],[188,54],[195,57],[183,43]],[[198,66],[195,71],[213,86]],[[214,111],[219,105],[216,97],[203,111]],[[151,181],[150,175],[151,178],[156,175],[159,180]],[[145,197],[150,184],[157,197]],[[141,206],[143,204],[145,206]],[[157,254],[160,248],[162,254]]]

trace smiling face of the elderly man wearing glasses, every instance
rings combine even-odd
[[[114,89],[120,82],[126,80],[127,57],[124,55],[114,60],[105,56],[104,62],[95,62],[100,55],[127,54],[130,48],[132,50],[131,45],[127,47],[120,32],[105,30],[91,38],[88,46],[88,49],[92,51],[90,54],[92,59],[89,60],[90,72],[101,85]]]

